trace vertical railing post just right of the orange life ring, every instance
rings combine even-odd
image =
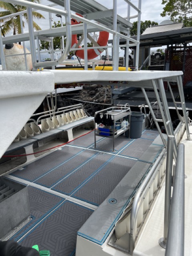
[[[113,0],[113,70],[118,70],[116,52],[117,52],[117,0]]]

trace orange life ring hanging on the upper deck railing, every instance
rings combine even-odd
[[[77,15],[81,16],[80,14],[76,13]],[[76,20],[72,19],[71,20],[71,24],[72,25],[75,25],[75,24],[80,24],[80,22],[77,22]],[[98,38],[98,41],[97,43],[100,45],[100,46],[106,46],[107,45],[107,42],[108,42],[108,39],[109,39],[109,32],[106,32],[106,31],[101,31],[99,32],[99,38]],[[77,40],[77,35],[72,35],[72,43],[71,43],[71,48],[76,48],[76,44],[78,43],[78,40]],[[79,46],[78,48],[82,48],[81,46]],[[102,52],[99,50],[99,49],[88,49],[87,50],[87,59],[88,60],[91,60],[91,59],[94,59],[96,58],[99,54],[101,54]],[[76,50],[75,52],[76,56],[78,56],[79,58],[81,59],[84,59],[84,50]]]

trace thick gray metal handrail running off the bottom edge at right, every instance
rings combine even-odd
[[[184,256],[184,144],[177,155],[165,256]]]

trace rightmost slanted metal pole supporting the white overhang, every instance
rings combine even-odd
[[[180,95],[181,104],[182,104],[184,122],[186,126],[187,139],[190,140],[190,132],[189,132],[189,126],[188,126],[188,118],[187,118],[185,98],[184,98],[184,92],[183,92],[183,83],[182,83],[181,76],[177,76],[177,84],[178,84],[178,90],[179,90],[179,95]]]

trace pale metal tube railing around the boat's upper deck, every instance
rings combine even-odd
[[[125,0],[125,2],[128,4],[128,9],[130,10],[130,7],[134,8],[138,14],[138,35],[137,35],[137,40],[134,40],[133,38],[130,38],[129,36],[129,28],[126,31],[126,29],[121,29],[126,31],[127,35],[121,34],[120,33],[120,28],[117,26],[117,0],[113,0],[113,29],[107,28],[106,26],[102,26],[101,24],[97,24],[91,20],[88,20],[84,17],[77,16],[76,14],[71,14],[70,13],[70,0],[64,0],[64,7],[65,10],[60,10],[57,8],[53,8],[52,6],[44,6],[42,4],[36,4],[33,2],[28,2],[26,0],[3,0],[4,2],[10,2],[14,4],[18,4],[20,6],[26,6],[27,7],[27,14],[28,14],[28,28],[29,28],[29,35],[30,35],[30,48],[31,48],[31,55],[32,55],[32,64],[33,64],[33,70],[36,70],[39,67],[46,67],[46,66],[56,66],[57,64],[61,64],[67,57],[68,52],[71,49],[71,41],[72,41],[72,31],[71,31],[71,17],[78,19],[79,21],[83,22],[83,29],[84,29],[84,40],[86,41],[86,30],[87,30],[87,25],[92,25],[95,28],[98,28],[99,30],[104,30],[108,31],[113,35],[113,70],[118,70],[118,53],[119,53],[119,38],[125,38],[127,40],[126,46],[129,47],[130,44],[129,42],[132,42],[131,46],[136,46],[136,70],[138,70],[138,56],[139,56],[139,38],[140,38],[140,15],[141,15],[141,0],[138,0],[138,7],[136,7],[134,4],[132,4],[130,1]],[[63,50],[62,56],[58,60],[52,60],[50,62],[36,62],[36,47],[34,44],[34,30],[32,26],[32,8],[38,9],[38,10],[43,10],[49,13],[55,13],[55,14],[60,14],[65,16],[66,18],[66,47]],[[23,12],[22,12],[23,13]],[[130,12],[128,12],[130,14]],[[18,13],[18,15],[21,13]],[[17,15],[17,14],[15,14]],[[132,16],[128,15],[127,20],[130,21]],[[38,39],[38,38],[37,38]],[[85,52],[85,69],[88,69],[88,61],[86,58],[86,44],[84,46],[84,52]],[[98,48],[97,46],[95,48]],[[104,48],[104,47],[101,47]],[[52,49],[53,50],[53,49]],[[74,49],[73,49],[74,50]],[[80,50],[80,49],[78,49]],[[128,52],[128,50],[127,50]],[[25,55],[25,54],[24,54]],[[127,55],[127,54],[126,54]],[[6,62],[4,59],[4,53],[3,53],[3,42],[2,38],[0,38],[0,56],[2,60],[2,69],[6,70]],[[128,62],[127,62],[128,63]],[[126,70],[127,70],[127,64],[126,64]]]

